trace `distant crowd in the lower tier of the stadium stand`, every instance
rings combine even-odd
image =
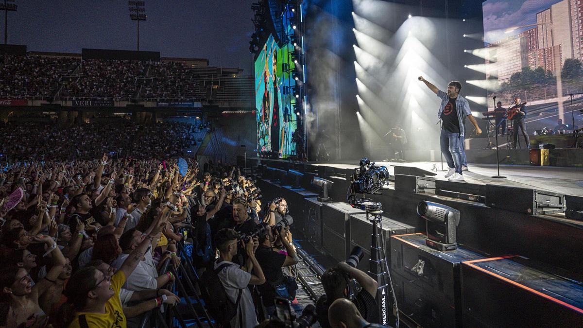
[[[104,151],[137,159],[170,158],[201,142],[195,133],[208,126],[180,122],[136,125],[127,120],[70,127],[6,123],[0,124],[0,154],[10,160],[95,159]]]

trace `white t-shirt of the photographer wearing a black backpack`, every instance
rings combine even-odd
[[[239,301],[239,306],[237,308],[237,315],[231,320],[231,327],[247,328],[257,326],[259,323],[257,322],[257,315],[255,315],[255,305],[253,305],[251,292],[249,291],[249,288],[247,288],[247,285],[251,280],[251,274],[241,270],[238,264],[229,261],[222,261],[219,263],[215,262],[215,268],[223,263],[232,264],[231,266],[223,268],[223,270],[219,272],[219,279],[223,284],[227,297],[235,303],[237,302],[239,289],[243,289],[241,300]],[[240,326],[238,319],[240,311],[243,315],[243,327]]]

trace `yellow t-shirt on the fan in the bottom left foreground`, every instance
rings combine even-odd
[[[125,328],[127,326],[127,320],[125,320],[124,307],[120,301],[120,289],[124,285],[124,282],[124,271],[117,271],[111,277],[111,288],[115,291],[115,295],[111,296],[107,301],[106,313],[77,312],[75,319],[69,324],[69,328]]]

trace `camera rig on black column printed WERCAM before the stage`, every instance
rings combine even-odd
[[[396,296],[393,292],[391,274],[387,263],[387,254],[383,245],[387,245],[382,232],[382,204],[366,198],[366,194],[380,195],[383,189],[388,189],[389,172],[385,166],[375,166],[368,158],[360,160],[360,168],[354,169],[354,174],[350,178],[350,187],[347,190],[346,198],[348,203],[354,208],[366,211],[367,221],[373,224],[371,234],[370,262],[368,275],[377,281],[377,306],[382,324],[388,324],[389,293],[392,295],[395,308],[397,307]],[[362,194],[358,198],[357,194]],[[396,310],[396,327],[399,327],[399,310]]]

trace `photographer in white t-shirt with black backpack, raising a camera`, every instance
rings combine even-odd
[[[215,245],[219,249],[219,259],[215,262],[215,270],[227,264],[217,274],[223,284],[224,290],[231,302],[237,304],[237,315],[233,317],[230,324],[233,328],[245,328],[257,326],[257,316],[251,292],[247,285],[261,285],[265,283],[265,276],[261,265],[255,259],[253,252],[254,243],[250,240],[245,245],[247,253],[247,263],[243,268],[232,262],[233,256],[237,255],[237,244],[239,234],[233,229],[221,229],[215,236]],[[255,274],[251,271],[255,270]],[[238,296],[240,298],[238,299]]]

